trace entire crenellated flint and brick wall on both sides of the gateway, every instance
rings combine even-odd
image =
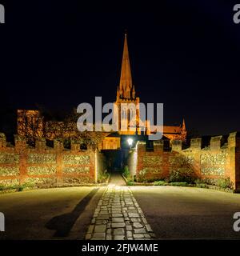
[[[237,133],[229,134],[227,143],[221,146],[222,136],[210,138],[210,145],[202,147],[202,138],[191,139],[190,146],[182,150],[182,141],[171,141],[171,150],[164,148],[164,140],[153,142],[153,150],[146,149],[146,142],[139,141],[130,154],[130,174],[138,180],[169,178],[174,171],[204,179],[230,178],[235,190],[240,189],[240,140]],[[70,150],[62,140],[54,140],[48,148],[44,138],[35,146],[15,136],[15,146],[6,147],[6,137],[0,134],[0,183],[4,180],[26,181],[35,184],[73,182],[97,182],[98,172],[106,166],[99,164],[101,153],[94,147],[80,150],[80,143],[72,141]],[[97,154],[96,154],[97,152]]]

